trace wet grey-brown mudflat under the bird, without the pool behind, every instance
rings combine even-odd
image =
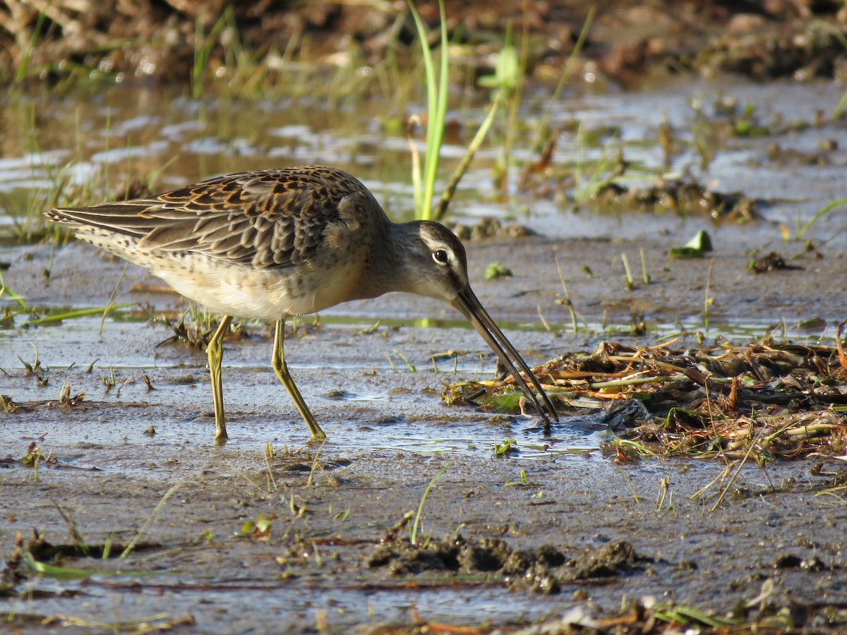
[[[469,267],[481,301],[530,364],[607,338],[652,344],[673,330],[696,345],[783,324],[789,337],[814,340],[843,317],[839,240],[793,260],[797,268],[767,273],[752,273],[739,242],[718,240],[711,257],[666,271],[668,242],[683,237],[495,238],[470,244]],[[639,262],[640,249],[651,282],[635,276],[628,289],[620,254]],[[45,279],[50,247],[25,251],[4,277],[32,304],[103,304],[123,270],[74,244],[54,251]],[[581,316],[577,334],[556,259]],[[494,260],[514,277],[484,281]],[[144,292],[151,284],[130,268],[115,301],[180,306],[173,294]],[[644,336],[626,332],[633,311],[645,315]],[[551,330],[517,328],[538,326],[539,314]],[[385,323],[369,329],[374,316]],[[422,316],[433,326],[409,322]],[[751,615],[790,609],[789,621],[810,631],[843,623],[839,461],[749,464],[730,479],[721,460],[604,453],[607,437],[586,429],[590,412],[545,434],[534,418],[448,408],[443,386],[490,377],[494,362],[477,334],[451,322],[450,307],[406,295],[337,307],[286,340],[292,373],[329,433],[323,445],[305,444],[305,425],[269,369],[268,334],[248,327],[228,341],[232,439],[216,446],[203,353],[158,345],[169,329],[127,317],[108,318],[99,339],[91,317],[0,340],[0,392],[23,406],[0,413],[3,610],[21,631],[158,620],[197,632],[390,632],[414,616],[507,627],[566,612],[575,619],[574,607],[597,619],[649,597],[719,615],[745,604]],[[809,317],[821,318],[812,334],[796,327]],[[33,366],[33,346],[41,373],[21,362]],[[436,362],[435,373],[431,356],[446,351],[459,355]],[[63,385],[85,395],[62,405]],[[506,438],[518,451],[495,456]],[[126,558],[99,557],[106,544],[119,555],[142,527]],[[16,560],[19,534],[34,541],[36,557],[90,575],[36,573]],[[87,557],[49,546],[83,542]]]

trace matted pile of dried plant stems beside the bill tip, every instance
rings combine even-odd
[[[560,413],[603,411],[596,428],[636,442],[639,456],[847,460],[847,357],[839,347],[672,345],[603,342],[534,372]],[[442,398],[501,412],[525,405],[511,377],[452,384]]]

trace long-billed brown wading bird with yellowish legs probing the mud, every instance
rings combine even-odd
[[[500,357],[545,425],[550,420],[515,363],[556,417],[538,379],[473,294],[457,237],[437,223],[392,223],[346,172],[307,166],[231,174],[151,198],[54,209],[47,218],[224,314],[207,349],[217,440],[227,439],[220,367],[233,317],[276,321],[271,365],[312,438],[324,439],[285,364],[285,318],[389,291],[455,306]]]

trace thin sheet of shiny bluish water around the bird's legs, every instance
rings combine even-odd
[[[118,426],[97,426],[101,444],[120,443],[127,435],[141,439],[141,433],[151,425],[157,430],[154,444],[162,447],[178,444],[180,439],[201,444],[208,441],[213,422],[198,417],[211,408],[205,355],[183,345],[157,346],[167,338],[167,330],[161,327],[106,320],[98,337],[99,324],[97,317],[80,317],[51,329],[0,332],[0,342],[4,343],[0,346],[0,367],[12,372],[4,392],[14,395],[19,403],[35,404],[58,400],[65,383],[73,395],[86,390],[84,403],[91,404],[91,411],[86,407],[76,415],[73,409],[58,408],[54,416],[69,422],[78,417],[97,417],[103,422],[119,419]],[[440,372],[435,373],[431,363],[421,364],[426,355],[423,347],[429,341],[460,345],[467,341],[470,345],[479,336],[468,329],[402,330],[410,334],[390,337],[386,344],[380,342],[379,352],[373,357],[369,355],[371,347],[356,344],[357,340],[363,344],[367,340],[355,327],[327,325],[306,337],[288,339],[286,354],[291,359],[291,372],[318,419],[328,422],[330,439],[325,451],[340,455],[398,450],[419,455],[492,456],[494,444],[507,437],[517,441],[518,448],[512,453],[516,457],[558,459],[571,450],[597,450],[599,439],[567,423],[545,438],[538,420],[531,417],[506,417],[492,424],[489,417],[480,417],[467,408],[446,411],[439,399],[443,384],[489,378],[493,365],[486,360],[480,366],[478,358],[466,355],[455,364],[451,360],[440,362]],[[349,342],[341,347],[346,350],[343,356],[337,353],[338,342]],[[393,346],[400,347],[421,367],[412,373]],[[274,444],[302,443],[307,438],[306,428],[269,367],[270,342],[253,338],[225,348],[224,394],[233,419],[229,426],[231,443],[245,448],[262,444],[263,439],[274,439]],[[16,370],[23,367],[20,360],[34,364],[36,351],[49,378],[45,387]],[[153,391],[148,391],[141,380],[144,375],[152,378]],[[114,388],[107,391],[103,378],[112,379]],[[162,411],[169,410],[174,411],[175,420],[160,418]],[[458,425],[443,422],[448,412],[457,417]],[[581,420],[584,416],[573,418]],[[16,417],[11,417],[5,425],[8,431],[19,430],[22,436],[39,436],[43,428],[32,428],[33,423],[25,422],[18,428]],[[54,425],[44,443],[73,444],[78,434],[77,426]],[[131,467],[120,469],[132,471]]]

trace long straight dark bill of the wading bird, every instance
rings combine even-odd
[[[500,361],[503,362],[503,366],[507,367],[509,373],[512,373],[512,377],[515,378],[515,381],[518,382],[518,385],[521,389],[523,389],[523,393],[527,395],[529,400],[532,401],[535,406],[535,409],[538,410],[541,417],[544,418],[545,426],[550,426],[550,419],[547,418],[544,408],[541,407],[535,393],[529,389],[529,386],[523,380],[523,377],[521,377],[521,373],[518,373],[518,369],[515,368],[515,364],[512,363],[512,359],[514,359],[515,363],[518,364],[518,367],[526,373],[529,381],[533,384],[534,388],[538,390],[541,395],[541,399],[544,400],[545,406],[547,406],[553,418],[558,421],[559,417],[556,414],[556,408],[553,407],[550,397],[548,397],[544,389],[541,388],[541,384],[538,383],[538,379],[535,377],[534,373],[529,370],[527,363],[523,361],[523,357],[520,356],[520,353],[518,353],[518,351],[515,350],[515,347],[512,346],[512,342],[506,339],[506,335],[503,334],[495,321],[491,319],[488,312],[485,311],[482,304],[479,303],[477,296],[474,295],[473,290],[471,290],[470,284],[459,292],[459,295],[456,296],[456,300],[452,301],[452,305],[455,306],[459,312],[462,312],[464,317],[468,318],[468,322],[473,325],[474,329],[479,331],[479,334],[482,335],[483,339],[491,347],[491,350],[500,357]]]

